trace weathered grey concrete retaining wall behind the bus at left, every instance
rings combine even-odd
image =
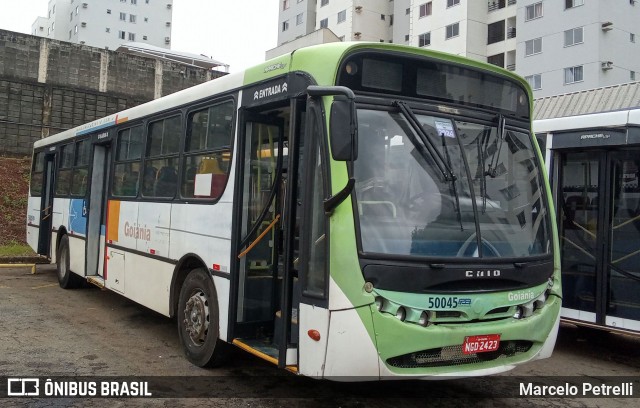
[[[0,154],[222,75],[0,30]]]

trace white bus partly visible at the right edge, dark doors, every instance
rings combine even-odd
[[[558,210],[562,318],[640,334],[640,109],[534,121]]]

